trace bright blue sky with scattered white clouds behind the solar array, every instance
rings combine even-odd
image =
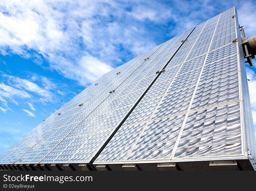
[[[1,0],[0,153],[106,72],[232,6],[255,35],[255,3]],[[256,129],[256,62],[246,66]]]

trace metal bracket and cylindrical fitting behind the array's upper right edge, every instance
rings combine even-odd
[[[246,63],[249,63],[250,66],[253,66],[252,59],[256,55],[256,35],[250,38],[245,36],[243,26],[239,26],[243,35],[242,45],[243,45],[243,54],[244,58],[247,59]]]

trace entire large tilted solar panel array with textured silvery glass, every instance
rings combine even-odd
[[[234,15],[233,7],[105,74],[0,164],[243,157],[245,69]]]

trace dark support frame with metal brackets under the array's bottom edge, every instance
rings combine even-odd
[[[92,168],[86,163],[65,163],[65,164],[19,164],[0,165],[0,170],[13,171],[173,171],[173,170],[254,170],[256,164],[251,165],[249,159],[239,160],[216,160],[216,161],[190,161],[175,163],[138,163],[138,164],[101,164],[93,165]]]

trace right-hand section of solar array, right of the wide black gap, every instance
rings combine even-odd
[[[234,15],[231,8],[196,26],[189,46],[173,57],[94,164],[244,156]],[[139,108],[143,103],[148,112]],[[130,128],[136,131],[132,143]]]

